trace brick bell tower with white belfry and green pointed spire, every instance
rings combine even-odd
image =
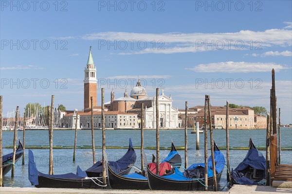
[[[93,107],[97,105],[97,79],[96,68],[94,67],[93,58],[91,54],[91,47],[89,49],[89,56],[87,65],[84,69],[84,110],[91,108],[91,99],[93,99]]]

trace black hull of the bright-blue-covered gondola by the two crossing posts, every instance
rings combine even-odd
[[[204,189],[198,180],[172,180],[153,174],[149,168],[147,168],[147,173],[149,187],[152,190],[200,191]],[[219,182],[221,174],[222,172],[217,174],[217,182]],[[214,185],[213,177],[208,178],[208,185]]]

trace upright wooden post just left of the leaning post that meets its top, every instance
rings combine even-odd
[[[208,186],[208,129],[207,129],[207,105],[208,96],[205,95],[205,112],[204,112],[204,157],[205,157],[205,185]],[[205,187],[205,191],[208,191],[208,187]]]

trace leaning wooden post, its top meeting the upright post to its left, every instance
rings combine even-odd
[[[213,127],[212,127],[212,115],[211,115],[211,102],[210,102],[210,96],[209,95],[208,95],[208,112],[209,112],[209,128],[210,128],[212,169],[213,169],[213,178],[214,178],[214,191],[217,192],[217,178],[216,178],[216,169],[215,169],[214,139],[213,139]]]

